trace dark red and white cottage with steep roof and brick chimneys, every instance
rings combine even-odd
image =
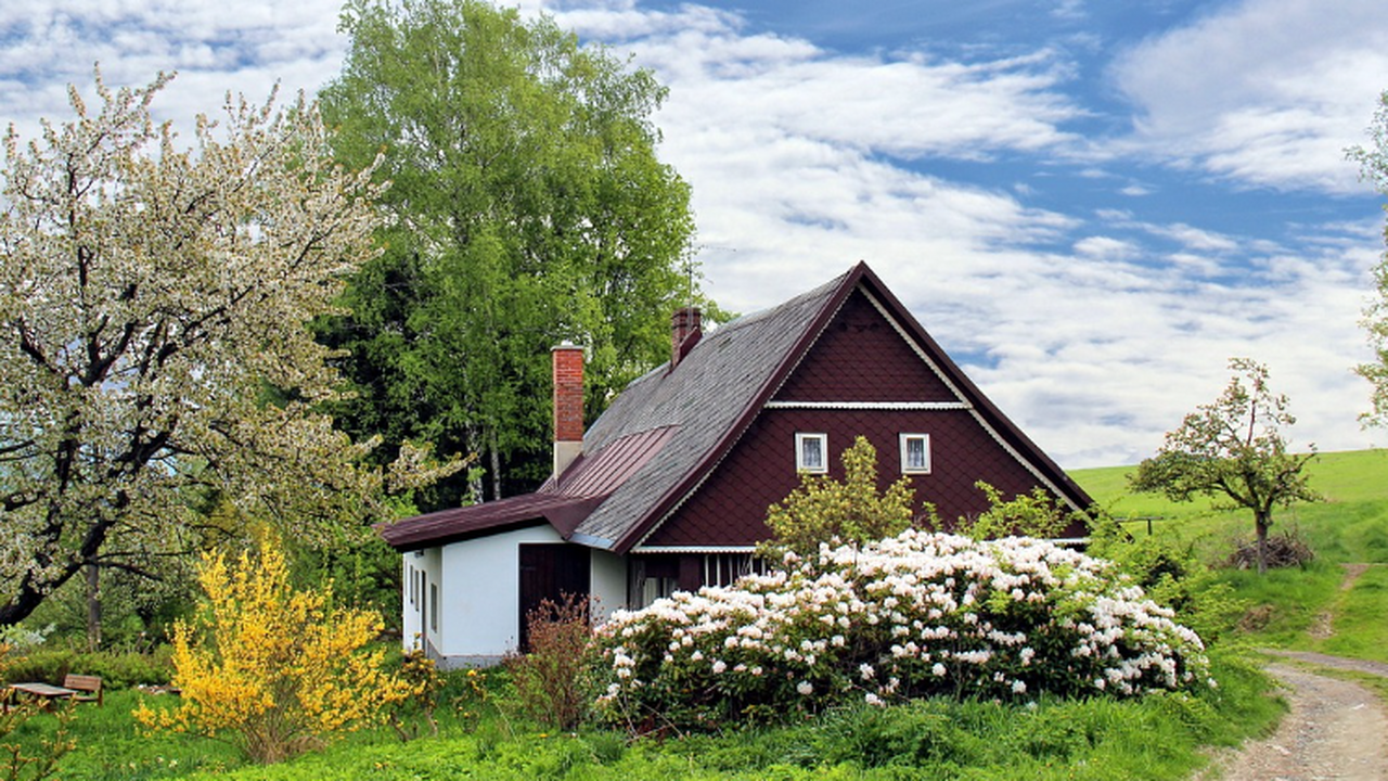
[[[677,311],[670,361],[586,432],[582,375],[582,347],[555,347],[554,474],[539,491],[380,529],[404,554],[407,643],[444,666],[523,645],[544,598],[586,593],[605,611],[731,582],[766,509],[801,471],[840,471],[858,435],[883,482],[909,475],[941,518],[987,507],[979,479],[1091,506],[866,264],[708,334],[697,310]]]

